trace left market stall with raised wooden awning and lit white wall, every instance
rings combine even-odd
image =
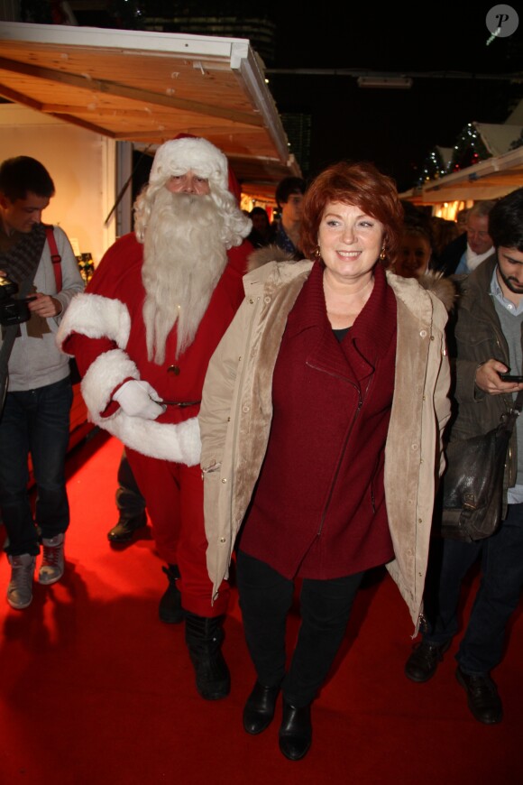
[[[57,189],[44,219],[99,261],[131,228],[133,149],[180,133],[227,155],[246,192],[300,175],[263,63],[244,39],[0,23],[2,158],[28,154]],[[107,217],[109,219],[107,220]]]

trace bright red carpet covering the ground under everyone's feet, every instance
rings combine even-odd
[[[417,685],[405,678],[411,623],[396,586],[381,573],[354,605],[337,670],[313,709],[313,746],[303,761],[280,754],[280,707],[264,734],[243,732],[254,673],[235,593],[225,640],[231,695],[216,703],[198,697],[183,625],[158,620],[166,581],[152,540],[119,551],[106,540],[116,518],[120,451],[117,441],[97,434],[69,457],[72,523],[62,582],[36,584],[31,607],[14,611],[5,602],[9,570],[0,557],[0,782],[520,781],[521,613],[494,674],[505,719],[481,725],[454,678],[458,641],[435,679]],[[296,626],[293,615],[290,637]]]

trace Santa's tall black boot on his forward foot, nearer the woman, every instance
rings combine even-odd
[[[231,675],[222,654],[223,616],[185,615],[185,640],[196,672],[197,691],[206,700],[219,700],[231,691]]]

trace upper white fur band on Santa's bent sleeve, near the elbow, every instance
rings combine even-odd
[[[108,338],[124,348],[131,332],[131,317],[127,306],[120,300],[100,294],[78,294],[66,310],[57,332],[61,346],[72,333],[89,338]]]

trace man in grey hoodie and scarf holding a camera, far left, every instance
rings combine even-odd
[[[0,512],[12,568],[7,602],[16,610],[31,605],[41,545],[39,582],[62,577],[69,527],[64,466],[72,388],[69,358],[55,335],[84,283],[67,235],[41,223],[53,195],[49,172],[34,158],[0,165]],[[34,516],[29,455],[38,490]]]

